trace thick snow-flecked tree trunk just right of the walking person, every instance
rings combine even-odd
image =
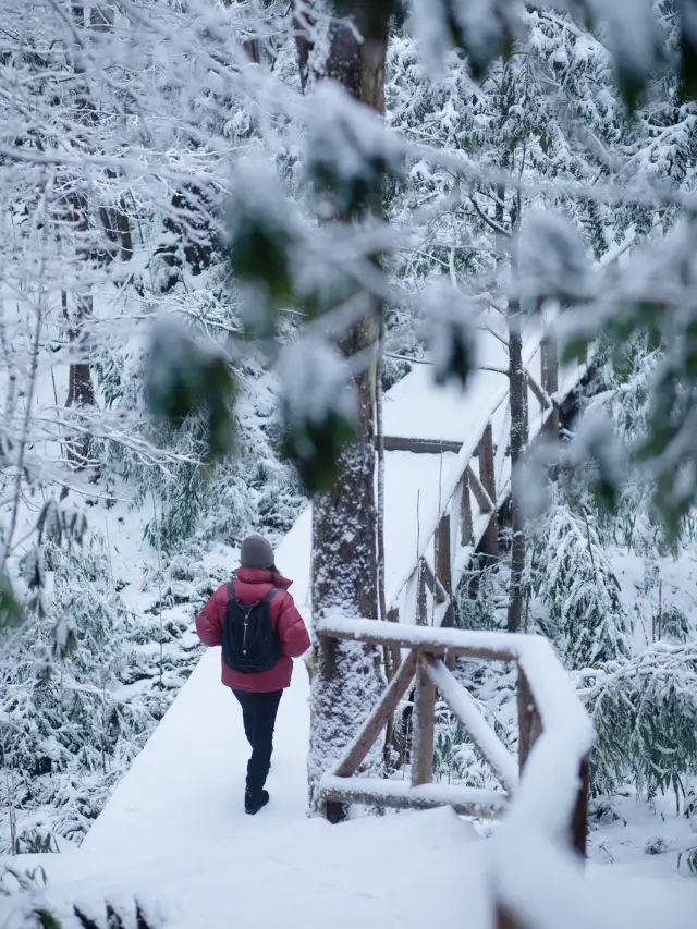
[[[348,9],[347,9],[348,8]],[[328,54],[314,58],[313,25],[332,10],[316,2],[311,20],[296,7],[297,51],[303,88],[314,81],[337,81],[352,97],[384,112],[384,64],[389,14],[376,15],[371,4],[343,2],[342,14],[329,26]],[[359,38],[359,36],[362,38]],[[346,217],[346,220],[355,217]],[[359,418],[357,441],[342,454],[339,477],[331,493],[313,506],[313,622],[341,611],[347,616],[379,615],[375,492],[376,360],[382,306],[366,300],[364,317],[341,341],[345,357],[375,349],[374,357],[356,375]],[[310,811],[332,822],[346,817],[341,804],[322,804],[317,796],[319,778],[354,737],[366,713],[384,686],[380,650],[359,643],[320,640],[313,670],[310,699],[310,750],[308,760]],[[382,768],[379,747],[365,767]]]

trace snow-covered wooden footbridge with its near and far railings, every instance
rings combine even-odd
[[[555,428],[561,404],[585,372],[578,365],[560,369],[545,334],[543,321],[524,333],[530,440],[548,424]],[[367,708],[360,731],[325,774],[320,790],[328,803],[420,809],[450,806],[477,817],[503,815],[502,826],[487,843],[490,867],[480,892],[491,900],[498,929],[542,929],[545,868],[555,868],[568,887],[583,887],[574,849],[580,854],[585,851],[592,733],[571,680],[545,639],[451,627],[453,591],[473,554],[477,550],[498,552],[498,514],[511,487],[506,357],[500,333],[482,332],[479,360],[481,369],[474,374],[464,395],[436,388],[428,366],[417,365],[386,396],[384,575],[389,622],[335,616],[322,622],[316,633],[387,647],[396,671],[379,705]],[[308,622],[310,525],[307,510],[277,550],[277,563],[294,577],[293,594]],[[517,663],[517,759],[453,676],[452,659],[460,656]],[[212,784],[224,796],[231,771],[239,771],[241,780],[246,762],[234,707],[219,684],[219,660],[217,650],[206,653],[117,787],[80,854],[108,854],[121,847],[156,855],[181,842],[182,836],[191,846],[198,843],[201,847],[228,841],[221,831],[220,805],[201,807],[192,787],[204,783],[211,790]],[[413,682],[411,780],[357,774]],[[437,692],[489,762],[500,790],[432,782]],[[274,804],[269,815],[255,818],[257,834],[270,826],[302,821],[307,726],[307,677],[296,673],[281,702],[277,728],[271,777],[276,777],[278,765],[282,778],[271,784]],[[178,798],[174,805],[172,797]],[[225,802],[224,809],[228,822],[233,807]],[[234,823],[241,834],[248,833],[248,819],[237,816]],[[546,864],[527,867],[527,878],[522,881],[521,849],[533,846]],[[530,860],[537,863],[538,858]]]

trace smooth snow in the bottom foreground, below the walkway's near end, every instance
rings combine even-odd
[[[205,787],[199,799],[206,806]],[[81,849],[26,856],[25,865],[46,869],[41,900],[53,912],[77,903],[103,919],[105,900],[132,913],[135,897],[168,929],[461,929],[465,914],[469,929],[488,927],[485,843],[450,809],[331,827],[302,816],[283,826],[269,808],[245,830],[217,811],[216,838],[204,844],[151,857]],[[16,897],[0,901],[7,929],[26,925],[23,916]]]

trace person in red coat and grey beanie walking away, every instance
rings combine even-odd
[[[233,592],[236,600],[249,604],[262,600],[273,588],[270,601],[271,625],[279,658],[270,671],[241,673],[222,662],[222,683],[230,687],[242,707],[242,719],[252,757],[247,765],[245,810],[258,812],[269,802],[264,790],[271,767],[273,729],[283,690],[291,686],[293,659],[310,647],[309,635],[288,588],[293,583],[277,571],[273,549],[261,536],[248,536],[242,542],[241,566],[235,572]],[[196,618],[196,632],[207,646],[221,645],[225,609],[230,594],[222,584]]]

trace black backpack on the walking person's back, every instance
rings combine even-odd
[[[278,644],[271,622],[273,587],[264,600],[243,603],[234,596],[233,582],[228,584],[228,607],[222,625],[222,660],[232,671],[260,674],[270,671],[279,660]]]

